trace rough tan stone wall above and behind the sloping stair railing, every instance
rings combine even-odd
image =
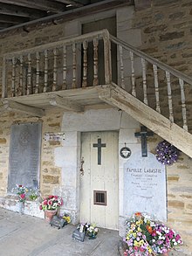
[[[150,7],[135,11],[132,20],[132,29],[141,31],[141,45],[139,49],[163,63],[174,67],[189,76],[191,69],[191,33],[192,3],[190,0],[151,0]],[[139,38],[140,40],[140,38]],[[148,94],[149,102],[153,105],[154,82],[150,80],[152,67],[148,66]],[[181,125],[181,96],[178,80],[171,77],[173,106],[175,121]],[[165,73],[159,72],[161,113],[168,113],[168,95],[165,90],[167,80]],[[164,91],[162,92],[162,90]],[[192,131],[192,91],[191,86],[185,84],[186,107],[188,114],[189,131]]]

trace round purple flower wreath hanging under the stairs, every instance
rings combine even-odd
[[[174,145],[169,142],[163,141],[159,142],[156,147],[156,158],[157,160],[166,165],[171,165],[175,163],[178,159],[179,151]]]

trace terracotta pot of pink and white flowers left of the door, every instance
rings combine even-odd
[[[58,208],[63,204],[63,200],[58,196],[44,197],[39,205],[39,209],[45,211],[45,219],[51,221],[51,218],[57,213]]]

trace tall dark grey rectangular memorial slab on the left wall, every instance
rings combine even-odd
[[[8,191],[16,187],[16,184],[37,188],[39,184],[41,127],[39,122],[11,126]]]

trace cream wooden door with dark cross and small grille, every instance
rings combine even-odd
[[[118,132],[82,133],[81,142],[80,222],[117,230]]]

